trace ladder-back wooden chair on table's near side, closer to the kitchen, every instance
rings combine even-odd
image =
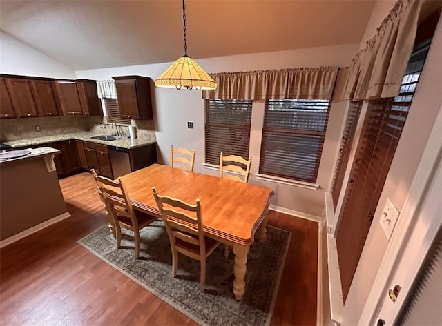
[[[131,230],[135,238],[135,258],[137,259],[140,256],[140,230],[158,218],[133,209],[131,199],[120,177],[117,181],[113,181],[104,176],[99,176],[93,169],[91,172],[97,182],[100,198],[106,207],[106,211],[113,219],[117,248],[121,247],[121,228]]]

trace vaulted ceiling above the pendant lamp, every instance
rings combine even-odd
[[[198,59],[359,43],[374,3],[187,0],[188,54]],[[181,0],[2,0],[0,29],[73,70],[169,62],[184,54]]]

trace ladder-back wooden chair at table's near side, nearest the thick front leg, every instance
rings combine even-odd
[[[204,236],[200,199],[195,205],[177,198],[160,196],[155,187],[153,196],[157,201],[162,220],[166,226],[172,250],[172,276],[177,274],[178,252],[200,261],[200,292],[204,292],[206,281],[206,258],[220,244]],[[180,210],[180,211],[178,211]]]

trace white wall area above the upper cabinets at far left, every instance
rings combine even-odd
[[[75,79],[75,71],[0,30],[0,73]]]

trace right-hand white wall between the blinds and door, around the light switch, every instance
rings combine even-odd
[[[378,1],[376,8],[378,6],[385,8],[385,3]],[[382,21],[388,12],[381,12],[381,10],[376,10],[376,8],[374,12],[378,12],[378,17],[372,17],[372,19]],[[368,26],[373,26],[373,24],[369,23]],[[358,318],[361,316],[362,309],[388,244],[387,238],[379,225],[381,212],[387,198],[390,198],[399,212],[401,212],[436,116],[439,110],[442,110],[441,57],[442,18],[439,19],[439,25],[434,34],[412,107],[410,108],[401,140],[398,143],[396,154],[385,181],[385,187],[379,199],[374,221],[365,241],[356,274],[349,290],[344,306],[342,325],[358,324]],[[416,201],[418,199],[416,198]]]

